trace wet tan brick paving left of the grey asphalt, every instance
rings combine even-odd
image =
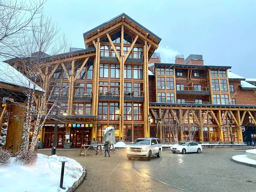
[[[38,153],[50,155],[51,151],[38,150]],[[137,172],[125,151],[111,151],[111,157],[89,151],[86,157],[79,157],[77,149],[61,149],[57,155],[75,159],[86,168],[86,179],[76,192],[181,192]]]

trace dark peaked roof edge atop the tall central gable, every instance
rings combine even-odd
[[[113,23],[114,21],[116,21],[116,20],[118,20],[118,19],[120,19],[120,18],[122,18],[122,17],[126,17],[128,20],[131,20],[132,23],[136,24],[138,27],[140,27],[141,29],[145,30],[149,35],[152,35],[152,36],[153,36],[154,38],[156,38],[159,42],[162,40],[160,37],[158,37],[158,36],[155,35],[153,32],[151,32],[150,30],[148,30],[147,28],[145,28],[144,26],[142,26],[140,23],[137,23],[137,21],[135,21],[134,19],[132,19],[131,17],[129,17],[129,16],[126,15],[125,13],[122,13],[121,15],[118,15],[118,16],[114,17],[113,19],[108,20],[107,22],[102,23],[101,25],[96,26],[95,28],[93,28],[93,29],[91,29],[91,30],[85,32],[85,33],[83,34],[83,36],[84,36],[84,41],[85,41],[85,37],[86,37],[87,35],[89,35],[90,33],[95,32],[95,31],[97,31],[98,29],[101,29],[102,27],[107,26],[108,24]]]

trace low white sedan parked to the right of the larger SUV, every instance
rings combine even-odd
[[[180,143],[179,145],[173,145],[171,148],[173,153],[189,153],[189,152],[197,152],[201,153],[203,150],[202,145],[195,143],[195,142],[183,142]]]

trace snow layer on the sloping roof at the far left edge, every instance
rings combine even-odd
[[[2,61],[0,61],[0,82],[28,89],[35,88],[37,91],[43,91],[41,87],[33,83],[22,73]]]

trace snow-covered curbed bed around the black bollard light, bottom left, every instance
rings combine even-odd
[[[63,187],[60,189],[61,157],[38,154],[35,166],[15,163],[0,166],[0,192],[65,192],[73,186],[83,173],[83,167],[75,160],[67,158]]]

